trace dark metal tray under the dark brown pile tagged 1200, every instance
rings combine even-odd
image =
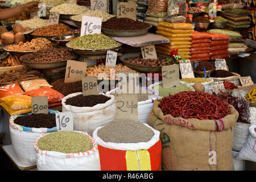
[[[148,32],[148,30],[152,27],[144,28],[142,30],[110,30],[107,28],[101,27],[101,32],[108,36],[121,36],[121,37],[130,37],[130,36],[140,36],[144,35]]]

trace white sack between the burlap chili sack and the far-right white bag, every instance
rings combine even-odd
[[[232,150],[239,152],[242,149],[249,137],[250,126],[247,123],[235,123]]]

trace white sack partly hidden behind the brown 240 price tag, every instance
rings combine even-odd
[[[148,89],[144,86],[140,86],[142,90],[148,91],[148,95],[142,94],[143,92],[138,93],[138,120],[143,123],[147,123],[148,115],[153,108],[154,100],[158,99],[158,93],[154,90]],[[115,91],[119,88],[110,90],[106,94],[115,94]],[[148,98],[151,97],[151,98]]]

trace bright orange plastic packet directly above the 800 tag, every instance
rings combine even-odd
[[[49,107],[52,107],[53,105],[61,105],[61,100],[65,97],[63,94],[57,92],[56,90],[53,90],[52,88],[49,88],[48,86],[40,89],[30,90],[28,92],[25,92],[25,95],[30,97],[47,96]]]

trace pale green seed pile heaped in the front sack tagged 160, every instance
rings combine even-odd
[[[55,131],[38,140],[40,150],[76,154],[92,150],[92,140],[76,131]]]

